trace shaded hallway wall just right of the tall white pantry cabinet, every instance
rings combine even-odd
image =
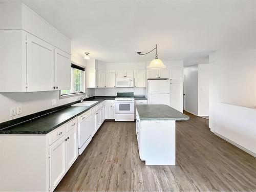
[[[184,69],[186,84],[185,111],[198,115],[198,65]]]

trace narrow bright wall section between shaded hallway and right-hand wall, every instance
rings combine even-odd
[[[198,116],[209,116],[209,65],[198,65]]]

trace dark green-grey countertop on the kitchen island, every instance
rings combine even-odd
[[[136,105],[140,120],[188,120],[189,117],[165,104]]]

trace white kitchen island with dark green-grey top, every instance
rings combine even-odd
[[[189,117],[168,105],[136,106],[139,156],[146,165],[175,165],[175,124]]]

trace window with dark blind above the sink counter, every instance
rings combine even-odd
[[[71,64],[71,89],[70,90],[61,90],[60,96],[84,93],[85,92],[85,69]]]

